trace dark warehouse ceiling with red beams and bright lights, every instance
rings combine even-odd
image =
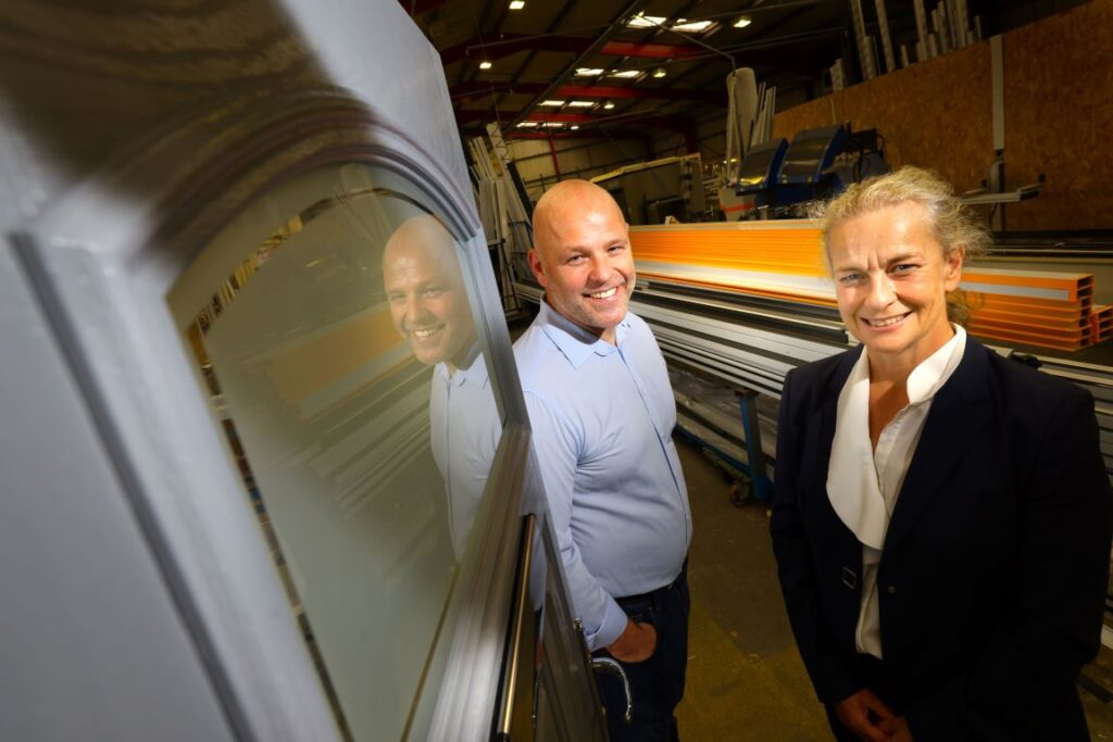
[[[512,137],[695,137],[697,120],[726,116],[732,68],[752,68],[781,101],[827,92],[839,58],[859,75],[849,0],[400,2],[441,53],[465,135],[499,121]],[[876,33],[875,1],[860,3]],[[1078,0],[966,4],[987,37]],[[914,41],[913,1],[884,7],[894,46]]]

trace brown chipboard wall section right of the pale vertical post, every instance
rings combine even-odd
[[[1113,228],[1113,0],[1005,34],[1005,180],[1047,181],[1008,229]]]

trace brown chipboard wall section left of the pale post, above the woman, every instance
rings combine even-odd
[[[936,170],[959,190],[977,188],[993,160],[988,42],[838,90],[774,117],[774,137],[850,121],[876,128],[894,167]]]

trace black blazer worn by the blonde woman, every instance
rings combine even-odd
[[[839,392],[860,353],[794,369],[777,433],[774,552],[825,703],[866,685],[854,639],[861,544],[826,484]],[[1111,512],[1090,394],[968,337],[878,567],[885,680],[870,687],[917,742],[1089,739],[1074,681],[1100,642]]]

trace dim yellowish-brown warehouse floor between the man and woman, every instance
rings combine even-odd
[[[684,742],[830,740],[777,585],[766,506],[731,504],[731,482],[677,439],[691,499],[692,612],[688,685],[677,710]],[[1084,674],[1113,689],[1113,652]],[[1113,740],[1113,704],[1082,691],[1094,740]]]

